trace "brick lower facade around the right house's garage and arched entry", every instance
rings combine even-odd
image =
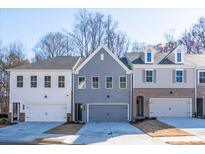
[[[194,88],[135,88],[133,89],[133,119],[136,117],[136,98],[144,97],[144,116],[149,117],[150,98],[192,98],[192,115],[195,109]]]

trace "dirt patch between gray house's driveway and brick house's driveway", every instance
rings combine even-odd
[[[144,120],[132,123],[151,137],[193,136],[193,134],[177,129],[158,120]]]

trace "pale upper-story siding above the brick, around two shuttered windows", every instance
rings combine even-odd
[[[173,70],[174,68],[153,68],[156,70],[156,83],[143,82],[143,70],[145,68],[134,68],[133,71],[133,87],[134,88],[194,88],[195,77],[194,69],[187,70],[186,83],[173,83]]]

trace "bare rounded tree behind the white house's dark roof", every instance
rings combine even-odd
[[[49,32],[34,47],[35,60],[73,55],[70,37],[60,32]]]

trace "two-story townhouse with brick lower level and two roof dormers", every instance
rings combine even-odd
[[[148,47],[128,53],[133,69],[133,119],[191,117],[195,112],[195,69],[182,46],[169,53]]]

